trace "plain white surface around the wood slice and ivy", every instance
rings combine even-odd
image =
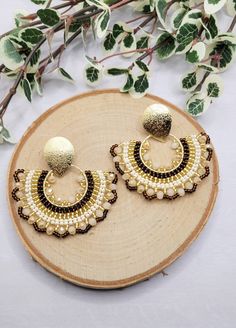
[[[12,27],[16,9],[35,10],[30,1],[1,3],[0,33]],[[126,10],[122,12],[126,14]],[[121,18],[121,12],[117,18]],[[228,19],[220,18],[229,25]],[[44,97],[32,104],[17,95],[6,115],[6,124],[18,140],[25,129],[58,101],[89,90],[83,82],[81,42],[75,42],[63,57],[63,66],[75,85],[56,75],[45,82]],[[88,54],[98,50],[89,45]],[[155,61],[155,60],[154,60]],[[109,64],[109,63],[107,63]],[[125,65],[126,66],[126,63]],[[184,107],[180,78],[190,67],[181,58],[168,64],[153,64],[150,92]],[[116,291],[93,291],[73,286],[46,272],[31,260],[10,219],[6,201],[6,176],[13,146],[0,146],[0,327],[162,327],[233,328],[236,325],[236,201],[235,201],[235,74],[236,67],[222,76],[223,96],[216,100],[199,122],[216,147],[221,181],[211,218],[190,249],[166,269],[168,276]],[[120,86],[118,79],[104,81],[101,88]],[[4,94],[7,83],[0,81]],[[193,196],[194,197],[194,196]]]

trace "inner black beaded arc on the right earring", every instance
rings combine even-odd
[[[166,178],[170,178],[172,176],[175,176],[176,174],[178,174],[179,172],[181,172],[182,170],[184,170],[184,168],[186,167],[186,165],[188,164],[188,160],[189,160],[189,145],[186,141],[185,138],[181,138],[180,142],[183,146],[184,149],[184,155],[183,155],[183,159],[182,162],[179,164],[179,166],[170,171],[170,172],[156,172],[153,171],[151,169],[149,169],[142,161],[142,159],[140,158],[140,147],[141,147],[141,141],[136,141],[136,144],[134,146],[134,158],[135,161],[138,165],[138,167],[146,174],[149,174],[152,177],[158,178],[158,179],[166,179]]]

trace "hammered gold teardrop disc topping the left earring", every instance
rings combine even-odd
[[[54,137],[47,141],[44,146],[44,157],[48,166],[56,175],[63,175],[72,164],[74,147],[64,137]]]

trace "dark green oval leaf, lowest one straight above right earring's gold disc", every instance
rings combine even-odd
[[[159,59],[167,59],[172,56],[175,52],[176,42],[173,35],[168,32],[163,32],[157,38],[157,50],[156,54]]]

